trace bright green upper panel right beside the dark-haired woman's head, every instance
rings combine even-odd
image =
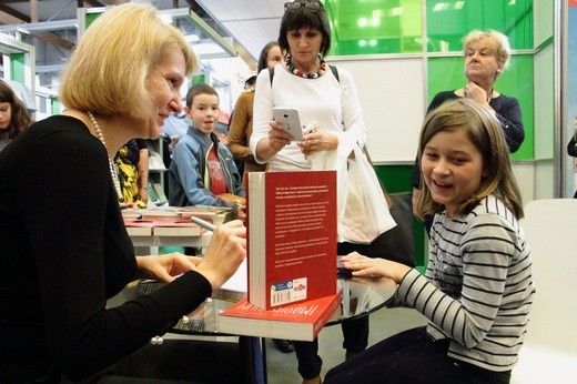
[[[331,54],[421,52],[421,0],[325,0]]]

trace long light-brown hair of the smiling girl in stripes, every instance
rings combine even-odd
[[[523,218],[523,201],[517,180],[513,174],[509,150],[499,121],[474,100],[459,98],[443,103],[425,118],[418,141],[418,159],[423,163],[425,145],[439,132],[463,130],[483,158],[484,176],[477,191],[458,209],[460,214],[470,212],[489,194],[496,194],[513,212]],[[422,171],[421,171],[422,172]],[[422,174],[422,180],[424,175]],[[442,212],[444,205],[435,202],[425,183],[415,210],[417,216]]]

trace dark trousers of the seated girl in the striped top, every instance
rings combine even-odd
[[[447,356],[449,340],[433,341],[426,327],[391,336],[328,371],[335,383],[508,383],[510,371],[493,372]]]

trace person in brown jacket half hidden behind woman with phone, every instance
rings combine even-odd
[[[259,57],[257,73],[265,68],[274,68],[282,62],[283,54],[279,43],[270,41],[264,46]],[[256,75],[254,75],[254,81],[256,81]],[[254,87],[250,87],[236,100],[229,128],[229,149],[234,160],[244,165],[243,180],[246,172],[263,172],[266,169],[266,164],[259,164],[254,160],[254,155],[249,148],[253,131],[253,107]]]

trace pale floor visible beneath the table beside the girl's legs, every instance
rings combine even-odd
[[[368,343],[378,341],[399,331],[425,324],[425,317],[409,309],[383,309],[371,314],[371,332]],[[345,352],[342,348],[343,334],[341,326],[333,325],[321,331],[318,336],[318,354],[323,358],[321,377],[333,366],[342,363]],[[266,368],[269,384],[298,384],[302,377],[296,371],[294,353],[282,353],[271,340],[266,340]]]

